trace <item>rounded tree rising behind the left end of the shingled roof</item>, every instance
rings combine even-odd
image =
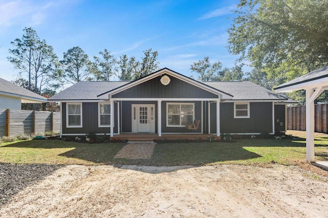
[[[100,51],[101,57],[94,56],[93,74],[96,80],[109,81],[116,71],[116,59],[111,53],[105,49]]]

